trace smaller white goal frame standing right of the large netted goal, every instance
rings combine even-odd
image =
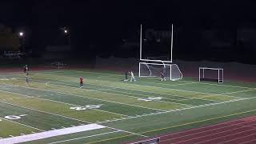
[[[211,68],[211,67],[199,67],[199,82],[202,80],[202,78],[205,78],[205,70],[216,70],[218,71],[218,83],[224,82],[224,70],[222,68]],[[213,78],[214,79],[214,78]]]

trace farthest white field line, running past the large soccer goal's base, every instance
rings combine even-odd
[[[83,73],[92,73],[92,74],[106,74],[106,73],[100,73],[100,72],[90,72],[90,71],[79,71],[79,70],[68,70],[68,71],[77,71],[77,72],[83,72]],[[122,74],[109,74],[109,75],[122,75]],[[191,82],[191,81],[184,81],[180,80],[179,82]],[[206,84],[206,85],[212,85],[212,86],[228,86],[228,87],[234,87],[234,88],[246,88],[246,89],[255,89],[254,87],[246,87],[246,86],[231,86],[231,85],[219,85],[214,83],[206,83],[206,82],[191,82],[191,83],[198,83],[198,84]]]

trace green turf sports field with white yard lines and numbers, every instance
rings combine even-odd
[[[256,115],[254,83],[123,78],[111,71],[42,70],[31,72],[26,86],[23,73],[0,74],[0,143],[26,136],[26,143],[134,142]]]

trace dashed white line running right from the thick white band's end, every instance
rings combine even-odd
[[[256,97],[254,97],[254,98],[256,98]],[[166,111],[166,112],[142,114],[142,115],[137,115],[137,116],[128,117],[128,118],[120,118],[120,119],[115,119],[115,120],[106,121],[106,122],[116,122],[116,121],[122,121],[122,120],[126,120],[126,119],[141,118],[141,117],[146,117],[146,116],[150,116],[150,115],[166,114],[166,113],[170,113],[170,112],[190,110],[190,109],[206,107],[206,106],[216,106],[216,105],[220,105],[220,104],[226,104],[226,103],[230,103],[230,102],[240,102],[240,101],[243,101],[243,100],[249,100],[249,99],[254,99],[254,98],[240,98],[240,99],[234,99],[234,100],[230,100],[230,101],[226,101],[226,102],[215,102],[215,103],[199,105],[199,106],[194,106],[194,107],[188,107],[188,108],[183,108],[183,109],[169,110],[169,111]],[[97,123],[106,123],[106,122],[97,122]]]

